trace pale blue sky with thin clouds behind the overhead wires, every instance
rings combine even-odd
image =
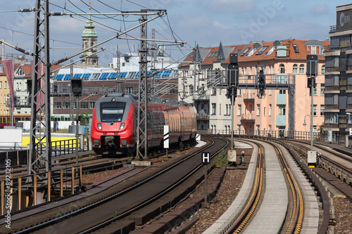
[[[167,46],[167,54],[177,60],[194,42],[200,46],[246,44],[250,41],[275,41],[283,39],[318,39],[329,37],[329,27],[336,25],[336,7],[352,4],[345,0],[49,0],[52,12],[82,13],[88,11],[92,2],[92,13],[116,13],[120,11],[140,11],[144,8],[166,9],[167,17],[149,23],[148,34],[156,29],[156,39],[182,40],[187,45],[182,50],[177,46]],[[17,11],[19,8],[34,7],[35,0],[1,0],[0,11]],[[106,6],[108,5],[108,6]],[[34,13],[0,13],[0,37],[8,43],[33,51]],[[86,19],[76,16],[84,21]],[[99,16],[96,23],[109,27],[114,32],[96,27],[98,42],[114,36],[115,32],[129,29],[138,24],[137,16]],[[85,22],[70,16],[50,18],[51,60],[70,56],[82,47],[82,31]],[[169,27],[171,25],[171,27]],[[139,37],[139,29],[128,37]],[[122,53],[137,49],[138,41],[113,39],[101,47],[99,65],[111,63],[118,45]],[[159,43],[157,43],[159,44]],[[6,47],[5,53],[19,53]],[[73,58],[78,59],[78,56]]]

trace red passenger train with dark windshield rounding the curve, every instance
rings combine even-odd
[[[163,145],[163,128],[169,126],[169,143],[196,137],[196,110],[175,100],[149,97],[147,107],[148,148]],[[142,103],[144,105],[144,103]],[[92,117],[92,147],[97,154],[134,152],[137,144],[138,97],[109,93],[99,98]]]

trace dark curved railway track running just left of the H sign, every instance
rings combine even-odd
[[[215,141],[217,143],[213,143],[207,149],[213,157],[227,145],[223,140]],[[122,228],[128,226],[133,229],[135,225],[140,225],[146,219],[151,218],[150,210],[152,208],[142,207],[145,207],[147,204],[149,204],[149,207],[156,205],[159,206],[158,210],[161,212],[161,209],[165,210],[165,207],[175,204],[177,200],[180,200],[181,195],[189,193],[189,190],[194,188],[196,183],[201,180],[203,176],[203,171],[199,171],[201,168],[201,157],[199,154],[198,157],[196,155],[196,153],[188,155],[177,162],[177,164],[168,165],[167,168],[162,170],[159,169],[158,174],[148,176],[148,178],[139,181],[139,183],[137,183],[138,178],[134,181],[136,183],[131,179],[130,183],[133,186],[122,188],[119,192],[115,192],[115,195],[100,202],[94,202],[94,204],[80,209],[77,208],[75,211],[68,212],[56,219],[53,219],[53,217],[42,217],[36,218],[38,223],[34,224],[21,222],[18,223],[18,228],[22,226],[20,230],[16,230],[14,227],[12,231],[18,231],[18,233],[43,233],[59,228],[57,230],[61,230],[63,233],[90,233],[93,230],[108,233],[107,230],[111,226],[114,226],[114,230],[118,230],[116,229],[118,228],[117,226],[123,226]],[[193,185],[189,184],[189,180],[193,181]],[[183,188],[183,192],[180,192],[182,191],[180,186],[184,186],[184,183],[186,183],[186,187]],[[165,194],[168,194],[169,197],[165,196]],[[173,198],[170,200],[172,196]],[[149,213],[144,216],[138,212],[136,214],[137,210],[141,212],[143,209],[149,209]],[[96,214],[99,214],[99,217]],[[127,216],[132,217],[129,218],[130,221],[126,221]],[[51,220],[41,221],[43,219]],[[131,221],[131,219],[134,221]],[[84,222],[82,222],[83,220]]]

